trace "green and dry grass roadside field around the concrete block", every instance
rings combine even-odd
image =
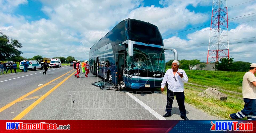
[[[189,83],[184,84],[186,103],[221,119],[230,119],[229,114],[243,109],[242,81],[246,72],[186,69],[185,72],[189,77]],[[198,94],[207,88],[217,88],[225,93],[228,95],[227,101],[199,97]]]

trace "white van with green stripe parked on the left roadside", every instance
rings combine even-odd
[[[37,69],[41,69],[42,70],[42,67],[41,67],[41,63],[36,61],[36,60],[23,60],[19,63],[19,70],[22,70],[22,72],[24,72],[24,63],[27,63],[28,66],[27,66],[27,69],[28,70],[37,70]]]

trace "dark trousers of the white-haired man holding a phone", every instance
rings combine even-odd
[[[171,114],[171,109],[173,105],[173,99],[176,96],[176,100],[179,106],[179,111],[181,112],[181,117],[186,116],[186,109],[185,109],[185,95],[184,92],[173,92],[167,88],[167,104],[166,104],[166,112],[167,114]]]

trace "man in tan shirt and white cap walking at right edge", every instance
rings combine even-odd
[[[231,119],[241,119],[247,116],[248,120],[256,119],[256,63],[251,64],[249,72],[243,76],[242,92],[245,107],[237,113],[229,114]]]

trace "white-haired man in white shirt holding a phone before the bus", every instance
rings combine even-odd
[[[184,95],[184,82],[188,81],[187,74],[184,70],[179,69],[179,61],[174,60],[171,64],[171,69],[168,69],[163,77],[161,83],[161,91],[163,92],[167,82],[167,104],[166,114],[163,117],[171,116],[171,109],[173,105],[174,95],[176,96],[177,103],[179,105],[179,111],[181,112],[181,118],[189,120],[186,116],[185,109],[185,95]]]

